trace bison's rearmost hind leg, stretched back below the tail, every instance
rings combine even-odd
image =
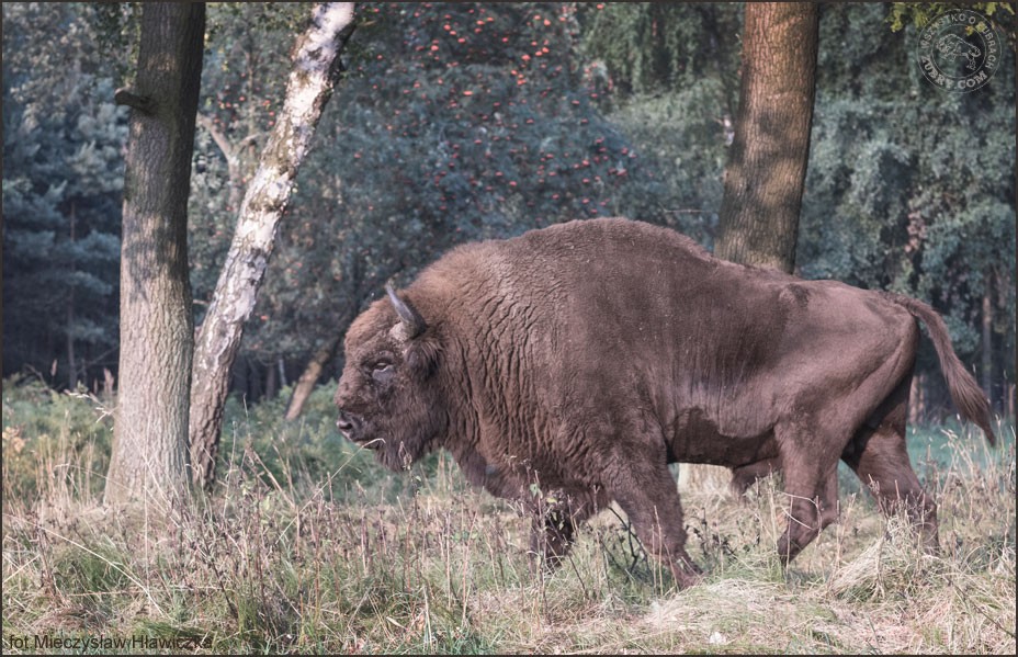
[[[841,458],[873,492],[880,510],[890,516],[904,509],[928,552],[937,552],[937,505],[912,469],[905,443],[908,409],[906,377],[863,424]]]

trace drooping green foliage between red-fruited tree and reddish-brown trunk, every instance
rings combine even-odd
[[[582,4],[578,50],[600,106],[655,185],[645,219],[710,247],[738,103],[738,4]]]

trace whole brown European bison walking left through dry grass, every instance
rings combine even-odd
[[[783,471],[784,563],[837,518],[838,458],[936,548],[905,452],[915,318],[958,409],[994,441],[926,304],[725,262],[649,224],[461,246],[387,292],[347,333],[340,431],[392,469],[449,450],[472,483],[534,511],[547,563],[615,500],[676,581],[697,581],[674,462],[727,466],[738,489]]]

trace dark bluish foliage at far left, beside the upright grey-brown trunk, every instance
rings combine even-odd
[[[3,7],[3,366],[71,388],[117,344],[126,124],[89,7]]]

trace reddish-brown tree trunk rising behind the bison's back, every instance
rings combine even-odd
[[[817,8],[747,2],[742,86],[714,253],[795,265],[816,80]]]

